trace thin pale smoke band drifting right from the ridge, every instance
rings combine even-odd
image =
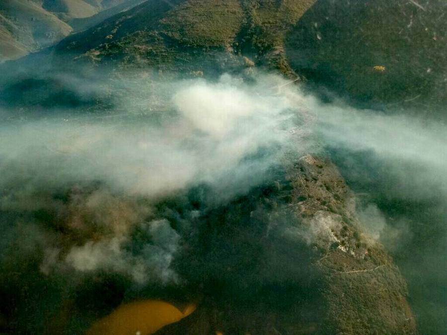
[[[396,178],[410,178],[419,189],[433,184],[447,193],[447,138],[444,124],[405,115],[355,110],[341,103],[316,104],[313,109],[319,115],[320,134],[331,145],[370,151],[378,159],[395,162],[392,173]],[[422,171],[430,173],[421,174]],[[405,188],[404,183],[400,186],[404,187],[400,188],[402,195],[414,194]]]

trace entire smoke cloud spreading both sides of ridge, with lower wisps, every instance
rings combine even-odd
[[[56,77],[71,89],[79,87],[79,96],[111,90],[105,88],[105,81],[79,85],[80,78]],[[334,150],[344,161],[352,160],[353,152],[368,152],[371,161],[382,162],[387,166],[384,179],[390,181],[384,188],[391,197],[426,199],[434,189],[446,197],[443,125],[357,110],[342,101],[325,104],[273,75],[254,74],[249,79],[230,75],[215,82],[125,77],[115,80],[112,87],[118,96],[115,114],[83,117],[65,110],[62,119],[3,125],[3,210],[62,210],[52,194],[67,192],[68,185],[101,183],[93,193],[81,192],[77,198],[72,195],[68,207],[72,212],[99,212],[94,215],[99,228],[93,230],[99,229],[106,239],[87,238],[65,252],[50,246],[42,268],[48,271],[51,263],[62,258],[79,271],[108,268],[133,273],[137,281],[145,282],[150,276],[143,274],[148,271],[144,262],[123,251],[132,229],[153,215],[150,205],[135,204],[138,197],[156,202],[206,184],[211,187],[213,201],[225,203],[262,185],[269,178],[269,169],[287,164],[291,153],[298,157],[320,145]],[[348,181],[370,180],[372,172],[362,170],[362,163],[354,163],[357,165],[350,167]],[[115,199],[116,194],[128,198]],[[116,212],[120,214],[114,214],[112,205],[98,211],[103,203],[115,203],[115,207],[119,203]],[[398,243],[399,237],[411,235],[405,218],[391,227],[375,203],[359,201],[359,205],[364,229],[373,240],[380,240],[381,235],[387,239],[395,236]],[[132,215],[123,214],[127,212]],[[152,220],[165,222],[163,217]],[[76,229],[82,225],[69,225],[76,224]],[[91,237],[91,230],[82,227],[81,233]],[[299,233],[307,242],[317,235],[315,231]],[[394,242],[387,243],[392,248]],[[164,250],[155,254],[168,268],[177,248],[157,248]],[[117,262],[112,266],[113,259]],[[157,262],[149,268],[161,268],[164,274],[160,278],[166,281],[169,271]],[[128,270],[119,264],[133,264],[128,268],[142,270]],[[175,274],[171,277],[178,280]]]

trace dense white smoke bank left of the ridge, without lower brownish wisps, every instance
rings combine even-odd
[[[177,89],[175,84],[166,87],[174,90],[172,110],[165,112],[161,125],[151,124],[149,115],[137,122],[66,119],[5,126],[3,166],[29,167],[33,179],[45,183],[101,180],[149,197],[197,182],[257,183],[249,175],[262,175],[286,144],[291,147],[294,139],[288,131],[294,127],[297,96],[275,96],[269,87],[235,80],[224,76],[215,84],[196,80]],[[141,103],[134,98],[123,102],[130,110]],[[22,171],[5,173],[7,181]]]

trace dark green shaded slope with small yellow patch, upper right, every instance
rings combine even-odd
[[[443,0],[318,1],[288,35],[287,56],[358,103],[436,114],[447,101],[446,10]]]

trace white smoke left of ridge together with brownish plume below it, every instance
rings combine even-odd
[[[41,272],[102,270],[138,284],[178,282],[170,265],[180,237],[153,205],[200,185],[224,204],[263,184],[286,152],[301,150],[302,136],[293,131],[300,126],[297,91],[276,76],[253,79],[123,79],[128,94],[116,109],[126,108],[125,115],[64,111],[62,119],[3,125],[1,209],[51,216],[43,220],[52,242],[40,245]],[[55,226],[62,242],[55,242]],[[138,252],[136,229],[144,236]]]

